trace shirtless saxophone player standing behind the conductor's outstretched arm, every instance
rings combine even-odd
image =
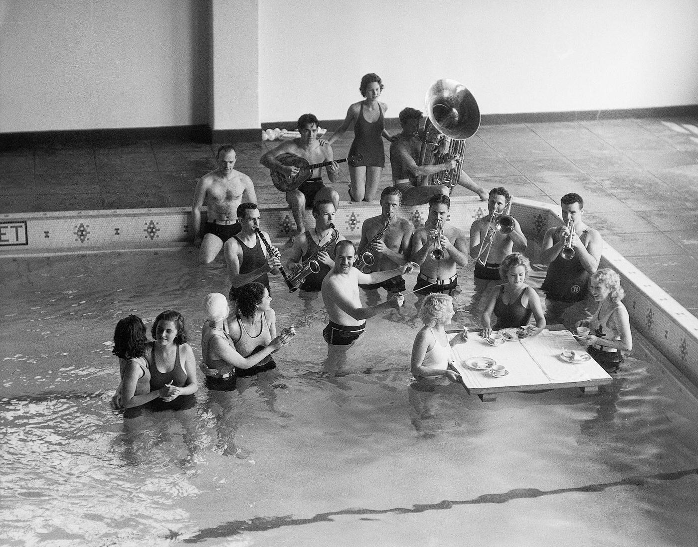
[[[397,216],[401,202],[400,190],[394,186],[384,188],[380,193],[380,215],[367,218],[361,227],[359,249],[375,258],[371,271],[391,270],[408,262],[414,230],[412,223]],[[377,237],[381,232],[383,235]],[[403,292],[405,280],[402,276],[395,276],[383,283],[360,286],[366,290],[383,287],[387,292]]]

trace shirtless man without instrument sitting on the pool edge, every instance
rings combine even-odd
[[[213,262],[223,243],[240,231],[235,220],[235,209],[245,195],[248,202],[256,203],[257,195],[252,179],[233,169],[236,160],[231,144],[223,144],[216,153],[218,169],[199,179],[194,190],[191,223],[194,245],[199,247],[199,261]],[[207,207],[206,225],[201,233],[201,208]]]

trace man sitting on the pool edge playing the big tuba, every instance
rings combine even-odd
[[[454,159],[437,165],[417,165],[423,142],[423,137],[419,133],[422,115],[422,112],[415,108],[403,109],[399,115],[402,131],[390,144],[393,186],[402,192],[403,203],[406,205],[423,205],[428,203],[434,195],[448,195],[450,193],[448,186],[430,185],[427,177],[454,169],[457,165]],[[479,195],[480,200],[487,200],[487,191],[482,186],[478,186],[463,170],[458,183]]]

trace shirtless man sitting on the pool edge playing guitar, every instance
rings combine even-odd
[[[329,144],[325,144],[323,147],[320,146],[320,141],[318,140],[318,119],[313,116],[313,114],[303,114],[298,119],[297,125],[301,136],[294,140],[283,142],[275,149],[269,150],[260,158],[260,163],[262,165],[269,167],[272,171],[280,171],[288,177],[295,177],[299,172],[298,167],[283,165],[279,160],[276,160],[277,156],[281,156],[281,154],[284,153],[292,153],[295,154],[295,156],[305,158],[311,165],[313,163],[325,163],[326,161],[333,160],[332,147]],[[327,170],[327,178],[329,181],[336,182],[337,172],[339,170],[337,164],[332,161],[325,169]],[[319,200],[330,200],[334,203],[334,209],[339,208],[339,194],[336,193],[336,190],[327,188],[327,186],[322,183],[320,167],[313,170],[311,178],[302,183],[298,188],[286,192],[286,202],[291,207],[293,220],[296,221],[296,226],[298,228],[298,234],[302,234],[305,231],[305,225],[303,223],[304,207],[311,209],[313,204]]]

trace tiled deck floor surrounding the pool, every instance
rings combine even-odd
[[[352,135],[336,143],[348,153]],[[283,203],[259,157],[276,143],[236,145],[260,204]],[[138,141],[0,151],[0,213],[191,205],[218,145]],[[386,142],[387,151],[387,142]],[[698,119],[618,119],[482,126],[466,172],[485,188],[557,203],[586,201],[586,220],[655,283],[698,315]],[[348,199],[348,173],[336,190]],[[381,187],[391,183],[389,162]]]

